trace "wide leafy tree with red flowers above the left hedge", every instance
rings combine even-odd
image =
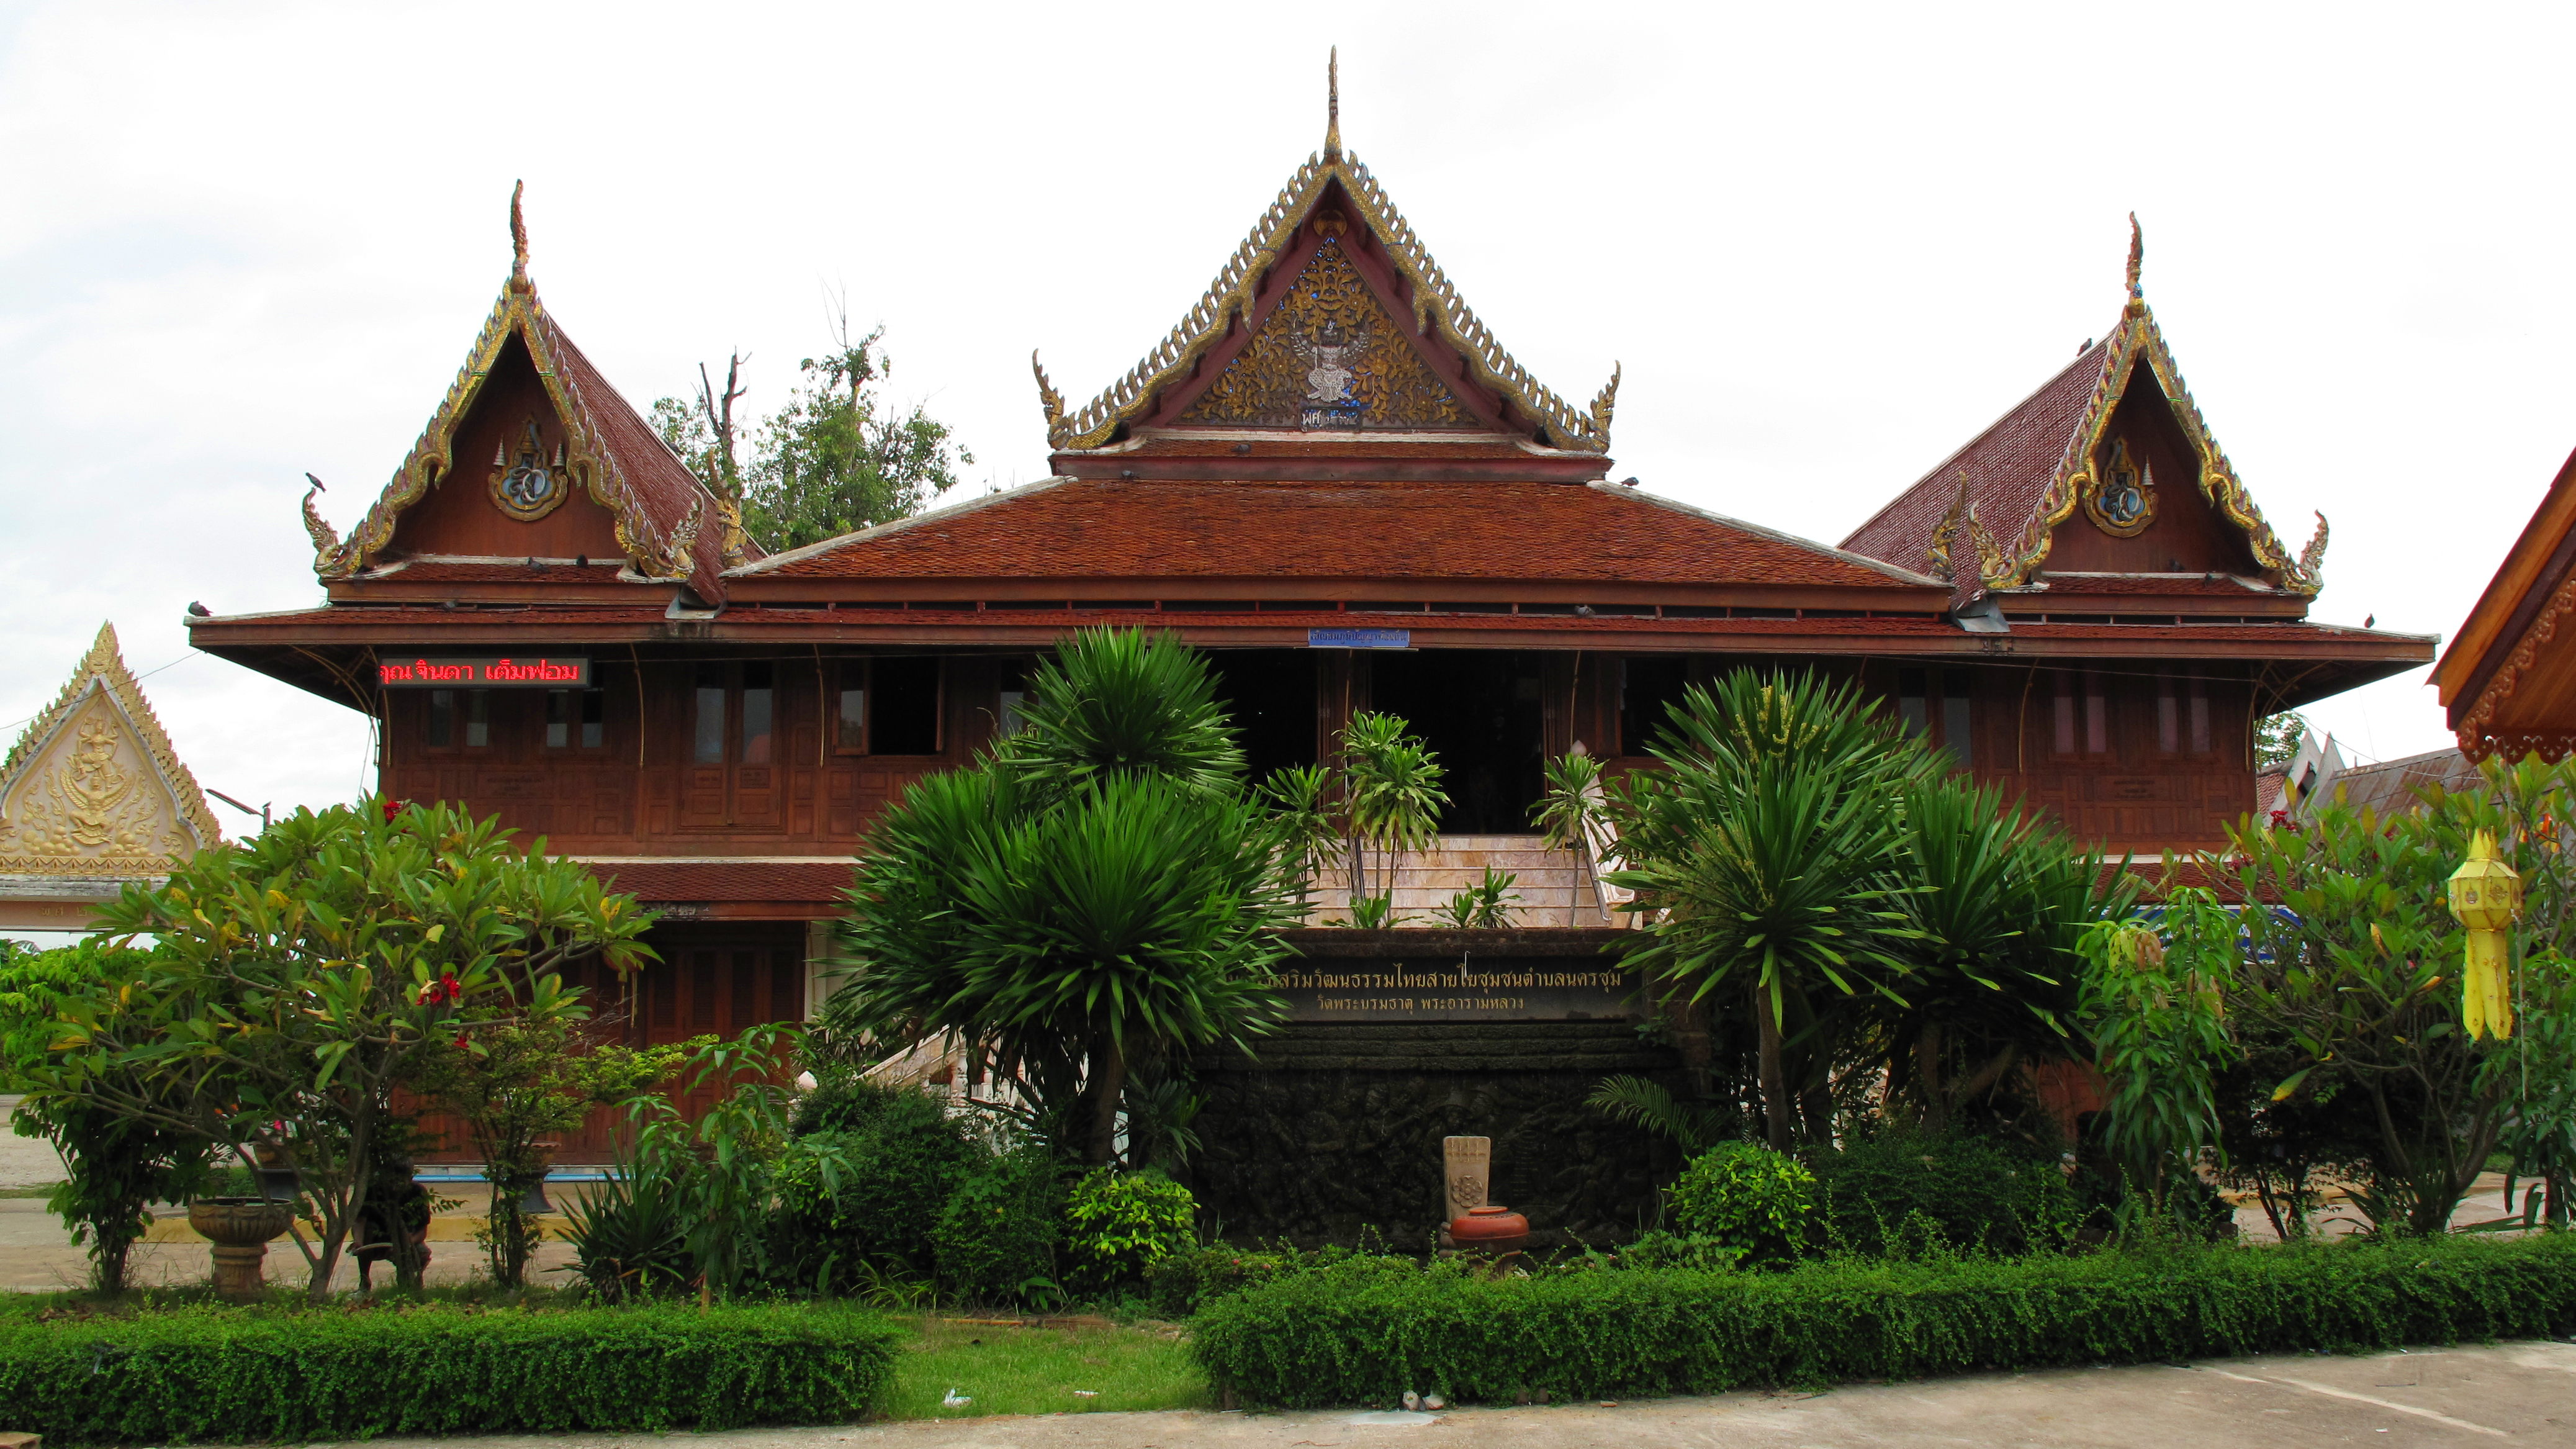
[[[319,1235],[296,1238],[314,1297],[402,1129],[397,1085],[489,1021],[580,1016],[556,975],[577,957],[654,959],[652,918],[587,869],[443,804],[299,810],[100,915],[160,944],[64,1006],[31,1101],[283,1160]]]

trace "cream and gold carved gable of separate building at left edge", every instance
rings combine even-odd
[[[0,879],[162,879],[224,835],[116,652],[116,627],[0,763]]]

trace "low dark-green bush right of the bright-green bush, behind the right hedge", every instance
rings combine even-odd
[[[2063,1248],[2084,1220],[2053,1160],[1981,1137],[1883,1132],[1811,1160],[1826,1240],[1850,1253]]]

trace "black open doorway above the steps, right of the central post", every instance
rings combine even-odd
[[[1450,835],[1530,835],[1548,784],[1538,660],[1504,650],[1370,655],[1368,701],[1440,755]]]

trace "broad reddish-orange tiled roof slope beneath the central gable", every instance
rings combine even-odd
[[[734,578],[1334,578],[1937,588],[1615,485],[1051,480]]]

